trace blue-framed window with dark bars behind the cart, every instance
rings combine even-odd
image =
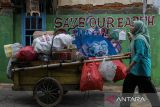
[[[24,4],[25,5],[25,4]],[[34,14],[31,16],[26,9],[22,11],[22,44],[24,46],[31,45],[33,42],[33,33],[35,31],[45,30],[45,0],[40,0],[40,15]]]

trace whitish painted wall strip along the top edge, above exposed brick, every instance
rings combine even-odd
[[[123,3],[130,4],[133,2],[142,2],[143,0],[58,0],[59,6],[64,5],[77,5],[77,4],[93,4],[93,5],[103,5],[106,3]],[[148,4],[152,4],[153,0],[147,0]]]

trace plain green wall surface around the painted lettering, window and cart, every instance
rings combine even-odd
[[[102,18],[106,16],[113,17],[115,19],[114,25],[117,26],[118,18],[123,18],[123,25],[125,25],[126,17],[140,16],[141,14],[96,14],[96,17]],[[88,14],[79,14],[79,15],[60,15],[57,17],[67,18],[67,17],[87,17]],[[152,15],[151,15],[152,16]],[[149,26],[150,36],[151,36],[151,54],[152,54],[152,79],[153,82],[160,86],[160,15],[154,15],[154,26]],[[55,30],[55,16],[47,15],[46,20],[46,30]],[[14,19],[14,24],[13,24]],[[151,19],[150,19],[151,20]],[[21,16],[15,15],[0,15],[0,82],[10,82],[6,77],[6,67],[8,59],[6,58],[3,50],[3,45],[20,42],[21,41]],[[114,26],[114,27],[116,27]],[[128,26],[121,27],[122,29],[129,30]],[[123,52],[128,49],[128,41],[123,42]],[[127,63],[127,61],[126,61]]]

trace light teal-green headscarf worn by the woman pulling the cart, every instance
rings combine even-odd
[[[133,40],[131,41],[131,51],[134,51],[134,41],[136,39],[142,39],[146,46],[150,49],[150,36],[147,29],[147,26],[144,24],[143,21],[134,21],[134,30],[132,32],[133,34]]]

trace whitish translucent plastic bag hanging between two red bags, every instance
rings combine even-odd
[[[103,59],[103,62],[99,66],[99,71],[103,78],[108,81],[112,81],[116,74],[116,65],[112,61],[105,61],[105,58]]]

